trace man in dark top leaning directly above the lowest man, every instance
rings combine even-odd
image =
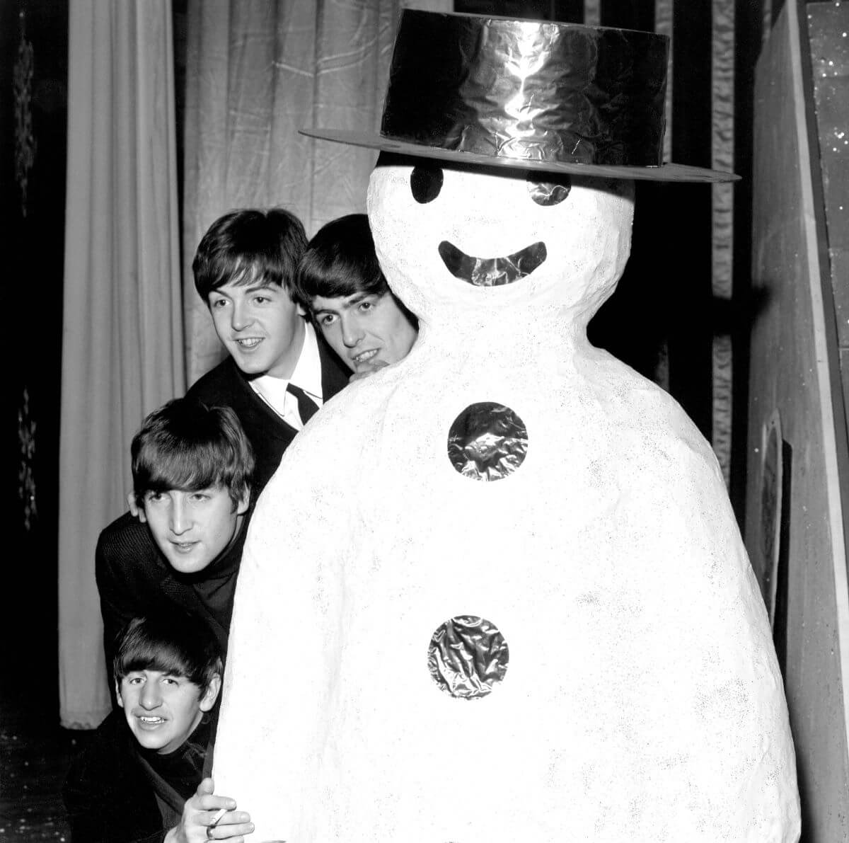
[[[131,452],[139,518],[112,522],[95,554],[107,669],[129,620],[178,607],[205,620],[226,653],[254,471],[239,419],[175,399],[147,416]]]

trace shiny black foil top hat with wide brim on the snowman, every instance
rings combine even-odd
[[[739,178],[663,163],[668,53],[654,32],[405,9],[380,133],[301,133],[488,167]]]

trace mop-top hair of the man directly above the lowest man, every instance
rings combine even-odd
[[[149,492],[223,487],[235,509],[250,493],[254,453],[229,407],[173,399],[145,418],[130,450],[138,506]]]

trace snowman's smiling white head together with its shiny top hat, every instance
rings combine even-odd
[[[627,259],[633,179],[736,178],[663,162],[668,50],[654,32],[405,9],[380,133],[302,131],[383,150],[375,246],[425,325],[514,303],[588,319]]]

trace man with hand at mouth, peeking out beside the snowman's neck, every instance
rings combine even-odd
[[[419,320],[386,283],[364,213],[335,219],[310,240],[295,296],[354,372],[351,380],[406,357],[419,335]]]

